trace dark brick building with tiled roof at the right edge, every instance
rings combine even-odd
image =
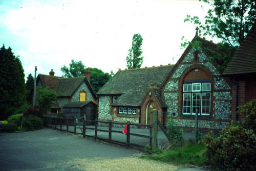
[[[223,76],[228,77],[234,84],[232,119],[239,120],[244,116],[238,115],[237,107],[256,99],[256,23],[231,58]]]

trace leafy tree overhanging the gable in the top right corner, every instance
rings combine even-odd
[[[215,54],[212,62],[218,64],[220,70],[224,70],[229,59],[244,40],[256,18],[255,1],[250,0],[215,0],[207,1],[212,7],[205,16],[205,23],[201,23],[199,17],[187,15],[184,22],[194,23],[199,28],[199,35],[209,35],[211,38],[219,38],[218,48],[226,53],[223,56]],[[186,42],[182,46],[190,44]]]

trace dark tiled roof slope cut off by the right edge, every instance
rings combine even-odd
[[[249,74],[256,72],[256,22],[240,47],[234,53],[223,75]]]

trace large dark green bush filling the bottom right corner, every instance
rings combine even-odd
[[[232,123],[216,138],[208,134],[202,139],[209,165],[220,170],[256,170],[255,104],[254,100],[239,107],[239,113],[246,115],[241,123]]]

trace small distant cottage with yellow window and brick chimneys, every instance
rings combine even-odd
[[[57,101],[53,103],[51,113],[62,113],[62,107],[70,102],[92,101],[97,104],[96,94],[90,85],[91,72],[88,69],[84,72],[85,77],[56,77],[53,70],[49,74],[38,74],[36,85],[48,87],[57,92]]]

